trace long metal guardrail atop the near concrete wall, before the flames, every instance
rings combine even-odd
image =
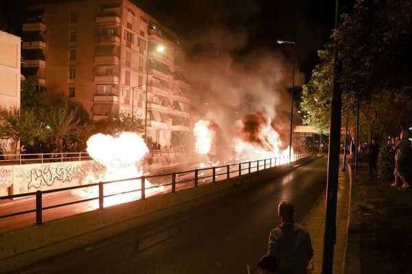
[[[306,153],[299,153],[293,155],[293,160],[300,160],[302,158],[306,158],[310,155],[313,155],[314,153],[312,152],[306,152]],[[288,156],[280,156],[277,158],[269,158],[269,159],[264,159],[264,160],[256,160],[256,161],[251,161],[251,162],[240,162],[236,164],[227,164],[223,166],[211,166],[211,167],[205,167],[202,169],[194,169],[190,171],[180,171],[176,173],[166,173],[166,174],[161,174],[161,175],[147,175],[147,176],[141,176],[141,177],[135,177],[135,178],[128,178],[128,179],[120,179],[120,180],[114,180],[114,181],[108,181],[108,182],[99,182],[95,184],[87,184],[84,186],[72,186],[68,188],[59,188],[59,189],[54,189],[54,190],[37,190],[36,192],[29,192],[25,194],[19,194],[19,195],[8,195],[8,196],[3,196],[0,197],[0,200],[3,199],[16,199],[16,198],[21,198],[21,197],[36,197],[36,208],[32,210],[25,210],[22,212],[14,212],[11,214],[5,214],[0,216],[0,219],[12,217],[12,216],[19,216],[22,214],[28,214],[32,212],[36,212],[36,225],[42,225],[43,224],[43,212],[45,210],[49,210],[52,208],[60,208],[63,206],[70,206],[76,203],[84,203],[87,201],[94,201],[98,200],[99,201],[99,210],[104,209],[104,199],[108,197],[114,197],[116,195],[124,195],[128,194],[131,192],[141,192],[141,200],[146,199],[146,191],[149,189],[153,188],[158,188],[159,185],[156,186],[150,186],[149,188],[146,188],[146,179],[150,178],[155,178],[155,177],[170,177],[171,182],[168,184],[161,184],[161,186],[171,186],[170,192],[176,192],[176,186],[178,184],[183,184],[183,183],[190,183],[193,182],[192,187],[197,187],[201,183],[204,184],[216,184],[216,182],[222,180],[222,179],[230,179],[231,175],[235,174],[232,177],[238,177],[242,176],[245,174],[253,173],[255,171],[261,171],[264,169],[269,169],[273,166],[279,166],[281,164],[286,164],[288,163]],[[219,173],[219,171],[222,169],[222,172]],[[247,171],[247,172],[244,172]],[[185,179],[185,175],[190,175],[187,179]],[[224,176],[225,175],[225,176]],[[219,176],[220,179],[217,179]],[[182,177],[183,179],[179,179]],[[104,195],[104,186],[107,186],[108,184],[113,184],[113,183],[118,183],[118,182],[125,182],[125,181],[130,181],[130,180],[140,180],[140,184],[137,189],[134,190],[128,190],[125,192],[118,192],[115,194],[110,194],[110,195]],[[81,199],[78,201],[70,201],[67,203],[60,203],[56,204],[54,206],[47,206],[43,207],[43,195],[49,194],[49,193],[56,193],[56,192],[64,192],[68,190],[75,190],[79,188],[90,188],[93,186],[98,186],[98,197],[93,197],[89,199]]]

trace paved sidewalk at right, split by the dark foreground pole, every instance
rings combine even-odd
[[[339,166],[341,170],[341,166]],[[343,274],[347,242],[347,224],[349,221],[350,180],[348,171],[339,171],[338,203],[336,208],[336,245],[334,245],[333,274]],[[317,201],[317,205],[305,217],[303,225],[312,238],[314,249],[312,274],[320,274],[323,260],[323,236],[325,233],[326,191]]]

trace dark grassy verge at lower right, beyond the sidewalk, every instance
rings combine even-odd
[[[368,175],[367,162],[361,162],[355,212],[361,220],[361,273],[412,273],[412,188]]]

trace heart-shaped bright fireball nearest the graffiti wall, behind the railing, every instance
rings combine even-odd
[[[144,158],[149,149],[144,140],[132,132],[124,132],[117,137],[104,134],[95,134],[87,140],[87,151],[93,160],[106,166],[106,173],[98,177],[88,177],[89,182],[108,182],[121,179],[141,177],[143,171],[139,161]],[[85,182],[84,180],[84,183]],[[145,187],[152,186],[146,179]],[[141,188],[141,180],[133,179],[124,182],[104,184],[104,195],[112,195]],[[146,190],[146,193],[163,189],[163,186]],[[97,188],[91,190],[96,192]],[[76,192],[78,194],[78,192]],[[85,194],[85,195],[91,195]],[[115,195],[104,199],[104,206],[112,206],[126,201],[133,201],[141,197],[141,192],[135,191],[123,195]],[[97,203],[97,202],[96,202]],[[93,205],[96,206],[96,205]]]

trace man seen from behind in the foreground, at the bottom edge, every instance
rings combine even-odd
[[[268,255],[277,258],[277,274],[305,274],[313,257],[310,234],[293,221],[293,205],[281,201],[277,214],[281,224],[271,231]]]

